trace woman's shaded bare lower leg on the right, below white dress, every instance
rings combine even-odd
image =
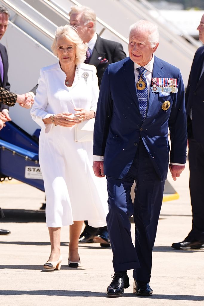
[[[78,242],[83,221],[74,221],[74,224],[69,226],[69,260],[78,262],[80,257],[78,253]]]

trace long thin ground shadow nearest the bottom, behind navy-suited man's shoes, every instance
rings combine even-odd
[[[0,290],[0,295],[43,295],[43,296],[62,296],[62,297],[107,297],[104,292],[92,292],[92,291],[69,291],[69,290]],[[133,293],[124,293],[121,298],[135,297]],[[142,298],[145,297],[135,297]],[[204,297],[196,295],[173,295],[173,294],[155,294],[152,297],[147,297],[148,300],[184,300],[184,301],[203,301]]]

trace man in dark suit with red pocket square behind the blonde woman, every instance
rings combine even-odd
[[[120,43],[103,39],[95,32],[96,14],[85,6],[72,6],[69,12],[70,24],[76,27],[83,43],[88,43],[87,58],[85,63],[94,65],[97,70],[98,85],[107,66],[126,58]],[[80,235],[79,242],[100,242],[101,246],[109,246],[107,227],[93,228],[85,221],[85,229]]]

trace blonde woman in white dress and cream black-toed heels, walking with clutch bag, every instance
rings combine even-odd
[[[74,139],[76,124],[95,117],[96,68],[83,63],[87,44],[70,25],[57,28],[51,48],[59,62],[41,69],[31,115],[41,126],[39,163],[51,243],[44,269],[60,270],[61,226],[70,226],[68,266],[78,267],[83,220],[93,227],[105,226],[108,204],[105,180],[92,170],[92,141]]]

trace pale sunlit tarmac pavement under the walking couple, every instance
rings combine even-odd
[[[114,274],[110,248],[96,243],[80,244],[81,267],[67,267],[69,227],[61,230],[61,270],[42,271],[50,253],[45,213],[39,211],[44,193],[15,180],[0,183],[0,206],[6,215],[0,228],[11,231],[10,235],[0,235],[0,305],[203,306],[204,249],[171,248],[173,242],[182,241],[191,230],[188,179],[188,165],[176,182],[168,176],[180,199],[162,205],[153,250],[153,296],[136,297],[132,293],[130,270],[130,287],[117,298],[106,297],[106,287]]]

